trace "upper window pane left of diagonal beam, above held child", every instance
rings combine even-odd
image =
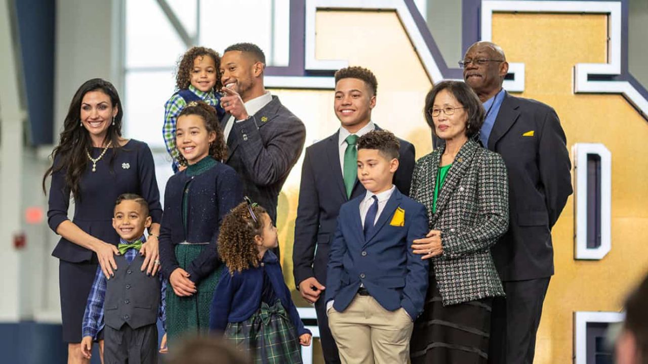
[[[126,1],[126,68],[175,65],[185,48],[155,0]]]

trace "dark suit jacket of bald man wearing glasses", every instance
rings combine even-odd
[[[572,194],[572,164],[558,115],[542,102],[506,93],[488,149],[502,155],[509,173],[509,231],[491,249],[500,277],[550,277],[551,228]]]

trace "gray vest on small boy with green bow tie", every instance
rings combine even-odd
[[[131,328],[156,323],[160,304],[159,277],[149,277],[146,271],[139,270],[144,262],[139,254],[131,264],[123,255],[115,255],[115,262],[118,268],[114,271],[115,277],[106,281],[106,325],[119,330],[124,323]]]

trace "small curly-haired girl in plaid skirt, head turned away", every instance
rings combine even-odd
[[[214,291],[209,327],[224,332],[255,363],[301,363],[310,331],[299,319],[277,256],[277,228],[248,198],[223,220],[218,251],[228,271]]]

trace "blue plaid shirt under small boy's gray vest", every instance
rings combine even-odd
[[[144,236],[141,240],[146,241]],[[123,239],[120,239],[121,244],[129,244]],[[137,250],[128,249],[124,253],[124,257],[128,260],[129,263],[133,262],[135,256],[137,256]],[[161,286],[161,302],[159,307],[158,317],[162,321],[162,327],[165,332],[167,331],[167,310],[166,310],[166,300],[165,295],[167,293],[167,284],[162,276],[158,273],[160,278]],[[106,298],[106,276],[104,272],[101,271],[101,267],[97,267],[97,273],[95,274],[95,281],[92,283],[90,288],[90,294],[87,296],[86,312],[83,315],[83,329],[82,337],[92,336],[93,339],[97,339],[97,334],[104,328],[104,299]]]

